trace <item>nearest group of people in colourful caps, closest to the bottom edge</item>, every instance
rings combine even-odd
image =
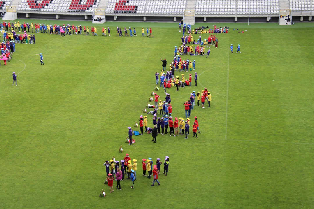
[[[153,165],[154,162],[152,158],[149,157],[148,159],[142,159],[143,177],[147,177],[149,179],[153,178],[153,182],[152,182],[153,184],[151,186],[154,186],[155,182],[158,183],[158,186],[160,185],[160,182],[158,180],[158,175],[160,174],[161,165],[164,165],[163,174],[165,174],[165,176],[168,175],[169,157],[168,156],[165,157],[165,162],[160,161],[161,160],[160,158],[157,158],[156,160],[157,160],[156,165]],[[131,180],[132,182],[131,188],[132,189],[135,188],[134,182],[137,180],[136,173],[137,173],[137,168],[138,168],[137,161],[138,161],[137,159],[133,159],[133,165],[132,165],[132,161],[131,161],[131,158],[129,157],[129,154],[126,154],[124,159],[120,161],[116,160],[114,156],[109,161],[106,160],[106,162],[104,163],[104,166],[106,167],[107,177],[104,184],[108,184],[110,188],[110,193],[114,192],[114,189],[113,189],[114,180],[117,181],[117,185],[116,185],[117,190],[122,189],[120,181],[123,181],[124,179]],[[148,172],[147,175],[146,175],[146,171]],[[106,196],[104,189],[102,189],[99,196],[100,197]]]

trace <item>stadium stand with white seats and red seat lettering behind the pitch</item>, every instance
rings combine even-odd
[[[314,16],[314,0],[0,0],[2,17],[75,18],[93,21],[102,16],[102,22],[120,21],[275,21],[280,11],[290,11],[292,16]],[[9,5],[9,6],[8,6]],[[16,9],[14,9],[16,8]],[[10,10],[10,11],[8,11]],[[8,13],[9,12],[9,13]],[[11,12],[11,13],[10,13]],[[23,14],[24,13],[24,14]],[[5,15],[6,14],[6,15]],[[68,16],[67,16],[68,15]],[[82,15],[82,16],[71,16]],[[119,17],[119,18],[118,18]],[[95,19],[94,19],[95,18]],[[283,23],[285,21],[282,21]],[[99,23],[96,21],[96,23]]]

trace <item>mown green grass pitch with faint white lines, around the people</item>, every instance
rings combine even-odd
[[[177,24],[108,22],[97,25],[98,37],[36,34],[35,45],[17,44],[0,67],[0,208],[313,208],[314,24],[217,24],[225,25],[230,33],[216,34],[208,59],[189,56],[198,86],[167,91],[179,118],[193,90],[210,90],[212,107],[195,106],[190,117],[202,133],[160,134],[154,144],[144,134],[135,146],[124,143],[127,127],[154,90],[160,57],[170,62],[180,44]],[[101,36],[103,26],[111,37]],[[138,37],[116,37],[117,26],[136,27]],[[141,27],[154,38],[141,37]],[[242,53],[230,55],[230,44]],[[103,163],[125,153],[138,159],[135,189],[124,180],[110,194]],[[141,159],[166,155],[169,174],[151,187]]]

